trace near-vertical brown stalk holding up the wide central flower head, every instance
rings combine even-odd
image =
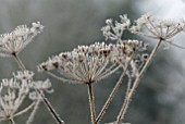
[[[95,122],[96,119],[96,111],[95,111],[95,103],[94,103],[94,91],[91,87],[91,83],[87,84],[88,87],[88,97],[89,97],[89,106],[90,106],[90,116],[91,116],[91,124],[97,124]]]

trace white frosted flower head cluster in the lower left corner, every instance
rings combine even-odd
[[[15,124],[13,120],[15,116],[34,109],[37,106],[36,103],[41,100],[40,96],[38,94],[33,95],[33,91],[35,89],[44,91],[51,88],[51,83],[48,79],[46,82],[34,82],[33,76],[33,72],[18,71],[16,74],[13,73],[12,78],[2,79],[0,85],[0,121],[9,120],[12,124]],[[30,104],[20,110],[24,100],[28,98],[32,100]]]

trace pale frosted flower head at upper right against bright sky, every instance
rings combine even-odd
[[[141,36],[171,41],[171,39],[184,30],[185,22],[180,23],[173,21],[157,20],[150,14],[145,14],[135,21],[135,25],[131,27],[131,32]]]

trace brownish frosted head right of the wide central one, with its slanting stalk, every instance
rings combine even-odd
[[[115,61],[122,66],[123,72],[115,84],[114,88],[112,89],[112,92],[110,94],[109,98],[107,99],[107,102],[102,107],[100,113],[98,114],[96,122],[99,122],[100,119],[106,113],[106,110],[112,100],[113,96],[115,95],[116,90],[119,89],[119,86],[122,84],[123,78],[127,76],[128,83],[127,83],[127,91],[131,90],[131,83],[132,78],[136,78],[139,75],[139,71],[143,67],[144,63],[146,62],[148,54],[144,51],[146,50],[146,45],[138,40],[122,40],[119,41],[116,45],[116,52],[114,55]]]

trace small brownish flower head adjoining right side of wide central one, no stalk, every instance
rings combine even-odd
[[[127,70],[127,76],[136,77],[139,73],[139,66],[146,62],[141,59],[144,51],[147,50],[147,45],[138,40],[123,40],[115,45],[116,52],[114,55],[124,70]],[[126,67],[126,66],[130,67]]]

